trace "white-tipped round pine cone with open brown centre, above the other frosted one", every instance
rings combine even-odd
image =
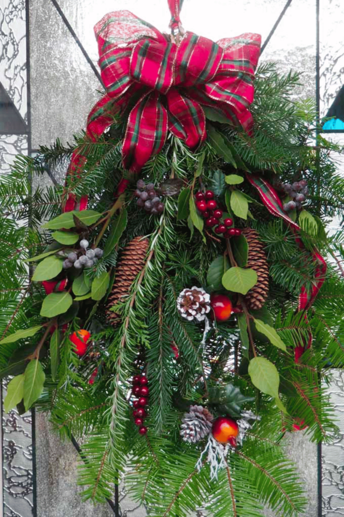
[[[177,298],[177,308],[183,318],[201,322],[210,311],[210,296],[202,287],[193,286],[191,289],[183,289]]]

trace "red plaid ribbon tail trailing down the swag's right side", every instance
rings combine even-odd
[[[275,192],[275,190],[269,185],[269,183],[258,176],[253,176],[251,174],[247,174],[247,179],[250,181],[251,185],[253,185],[260,195],[261,201],[263,201],[264,205],[269,210],[270,214],[273,214],[276,217],[281,217],[284,219],[287,224],[293,229],[295,234],[298,234],[300,231],[300,226],[296,224],[294,221],[290,219],[290,217],[286,214],[286,212],[283,210],[282,202]],[[296,237],[296,241],[300,248],[303,248],[303,242],[299,236]],[[326,274],[326,262],[324,261],[324,258],[320,255],[318,250],[314,250],[312,253],[312,257],[314,262],[316,262],[316,271],[315,271],[315,277],[312,289],[310,291],[307,291],[306,288],[303,286],[301,289],[301,293],[299,296],[299,312],[305,312],[308,310],[315,298],[317,297],[320,288],[325,280],[325,274]],[[305,315],[305,318],[307,316]],[[298,362],[300,357],[305,351],[305,348],[309,348],[312,344],[312,334],[309,333],[309,339],[307,343],[300,344],[297,346],[294,350],[294,358],[295,362]]]

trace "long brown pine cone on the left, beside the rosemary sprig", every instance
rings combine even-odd
[[[116,266],[116,275],[112,292],[108,297],[106,311],[108,321],[113,326],[120,323],[121,317],[117,312],[113,312],[110,309],[123,302],[129,294],[135,278],[144,265],[148,246],[149,240],[140,236],[131,240],[122,251],[120,261]]]

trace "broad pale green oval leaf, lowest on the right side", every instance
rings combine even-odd
[[[265,357],[254,357],[249,364],[249,375],[256,388],[274,399],[279,399],[280,375]]]

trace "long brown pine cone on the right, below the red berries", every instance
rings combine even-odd
[[[251,228],[245,228],[242,235],[246,237],[249,245],[247,267],[254,269],[258,276],[256,285],[247,293],[244,300],[249,309],[258,310],[263,307],[269,293],[268,261],[259,234]]]

